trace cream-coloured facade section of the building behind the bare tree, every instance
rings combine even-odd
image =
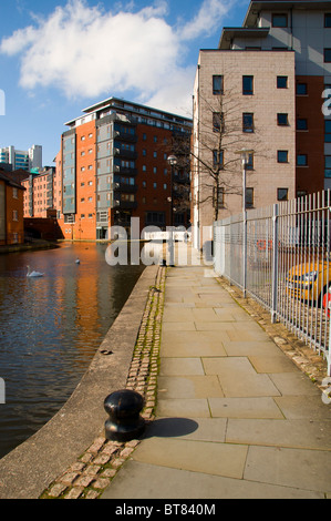
[[[238,150],[254,151],[247,165],[247,210],[294,197],[294,53],[201,50],[193,132],[193,217],[199,247],[211,239],[215,218],[242,211]],[[213,178],[217,162],[218,190]]]

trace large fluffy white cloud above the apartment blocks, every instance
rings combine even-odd
[[[136,12],[134,2],[105,12],[100,4],[69,0],[46,19],[34,17],[34,27],[2,39],[0,52],[21,54],[20,85],[28,90],[53,86],[69,99],[131,90],[143,103],[187,112],[195,68],[180,63],[183,44],[215,29],[226,9],[226,0],[205,0],[176,31],[165,20],[165,0]]]

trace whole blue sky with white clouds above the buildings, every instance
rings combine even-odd
[[[0,0],[0,147],[43,147],[111,96],[192,118],[199,49],[249,0]]]

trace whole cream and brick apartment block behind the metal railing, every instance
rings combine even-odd
[[[213,224],[213,205],[218,218],[242,210],[242,168],[235,154],[242,147],[251,150],[247,210],[331,187],[331,115],[322,110],[330,88],[330,0],[252,0],[241,28],[224,28],[218,49],[200,51],[194,86],[195,225]],[[221,139],[213,112],[220,113]],[[204,164],[215,161],[224,172],[219,193],[210,196]],[[198,234],[195,243],[201,245]]]

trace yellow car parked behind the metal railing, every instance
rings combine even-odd
[[[287,276],[287,289],[293,297],[322,305],[331,284],[331,263],[306,263],[293,266]]]

